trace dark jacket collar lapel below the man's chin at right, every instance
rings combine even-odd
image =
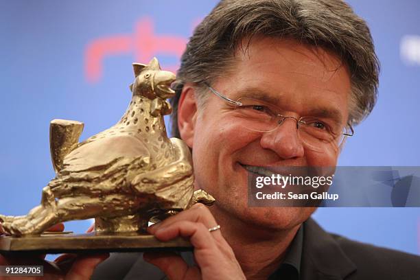
[[[304,223],[301,279],[345,279],[356,270],[334,238],[312,218]]]

